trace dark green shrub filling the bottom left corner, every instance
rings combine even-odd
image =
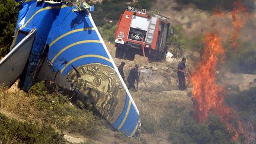
[[[65,143],[63,134],[50,126],[22,123],[0,114],[1,143]]]

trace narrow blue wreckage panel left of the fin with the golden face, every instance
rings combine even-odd
[[[23,8],[25,10],[23,10]],[[17,39],[18,31],[30,31],[32,28],[37,29],[36,39],[34,40],[34,44],[31,49],[31,55],[23,85],[23,89],[25,91],[28,91],[28,89],[33,85],[49,31],[61,8],[66,8],[66,6],[62,4],[51,5],[45,2],[37,3],[36,0],[25,2],[21,6],[15,33],[14,46],[20,40]]]

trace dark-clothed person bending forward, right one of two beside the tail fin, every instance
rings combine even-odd
[[[129,83],[128,89],[130,88],[136,89],[134,83],[135,83],[135,79],[137,82],[139,82],[138,68],[139,68],[139,65],[135,65],[135,68],[131,69],[129,73],[129,76],[127,78],[127,81]]]

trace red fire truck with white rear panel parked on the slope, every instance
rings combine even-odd
[[[133,60],[135,55],[147,56],[149,61],[164,60],[167,54],[168,18],[147,15],[128,7],[121,14],[116,29],[116,57]]]

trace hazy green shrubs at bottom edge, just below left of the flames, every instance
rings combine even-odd
[[[168,113],[160,120],[162,129],[169,131],[168,140],[172,143],[233,143],[232,135],[226,125],[215,115],[210,115],[206,123],[194,120],[193,111],[185,107],[172,107],[174,112]]]

